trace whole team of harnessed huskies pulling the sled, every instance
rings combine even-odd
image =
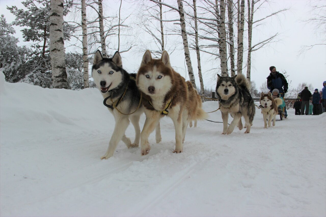
[[[115,52],[112,58],[103,58],[100,51],[96,51],[92,77],[100,90],[104,105],[114,116],[115,126],[109,142],[107,152],[101,159],[111,157],[122,140],[127,148],[141,145],[141,154],[149,153],[151,147],[148,141],[149,135],[156,130],[156,142],[161,141],[159,121],[168,116],[172,119],[175,128],[175,150],[183,151],[183,143],[188,124],[192,121],[204,120],[206,112],[201,108],[202,102],[197,90],[190,81],[173,70],[170,65],[170,57],[167,51],[162,52],[161,59],[153,59],[149,50],[143,55],[137,74],[129,74],[123,69],[119,52]],[[250,82],[243,75],[233,77],[221,77],[218,75],[216,94],[220,99],[220,110],[223,119],[223,133],[230,134],[237,125],[241,130],[245,120],[245,133],[250,132],[250,127],[255,115],[254,101],[249,93]],[[268,126],[271,119],[277,114],[277,99],[271,94],[261,93],[260,103]],[[276,106],[276,110],[275,110]],[[142,130],[139,126],[141,114],[145,112],[146,120]],[[233,117],[228,127],[229,113]],[[126,137],[125,131],[129,122],[135,128],[135,140],[131,143]],[[191,126],[190,125],[190,126]]]

